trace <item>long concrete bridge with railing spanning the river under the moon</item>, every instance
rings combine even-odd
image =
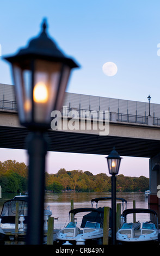
[[[26,149],[28,130],[19,124],[13,88],[0,84],[0,147]],[[108,155],[115,147],[121,156],[150,158],[149,204],[152,208],[160,206],[157,197],[157,186],[160,185],[160,105],[150,103],[149,116],[148,102],[66,93],[64,106],[61,111],[63,129],[47,132],[48,151]],[[102,130],[99,127],[94,129],[91,116],[90,129],[76,129],[75,126],[70,130],[71,111],[78,113],[79,124],[82,111],[94,111],[97,117],[101,114],[103,124],[109,111],[108,135],[99,135]]]

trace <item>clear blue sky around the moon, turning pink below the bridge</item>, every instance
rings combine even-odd
[[[81,65],[72,73],[68,92],[146,102],[150,94],[151,102],[159,103],[159,9],[158,0],[1,1],[2,56],[26,46],[30,38],[39,34],[42,19],[46,17],[48,33],[61,50]],[[115,76],[104,75],[102,66],[106,62],[117,65]],[[0,71],[0,83],[12,84],[9,65],[2,59]],[[123,161],[129,164],[129,160],[125,157]],[[83,162],[83,166],[78,162]],[[75,167],[67,165],[67,160],[60,167],[108,172],[104,156],[97,156],[95,164],[89,166],[88,158],[81,161],[78,155]],[[141,172],[149,176],[148,160],[137,159],[137,166],[140,164],[143,167],[136,167],[140,169],[134,174],[139,176]],[[129,169],[126,164],[121,172],[133,176],[134,171]],[[58,163],[53,172],[57,170]]]

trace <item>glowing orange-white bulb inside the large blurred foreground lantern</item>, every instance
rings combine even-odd
[[[48,90],[46,84],[43,82],[38,82],[35,84],[33,90],[33,100],[38,103],[45,103],[48,100]]]

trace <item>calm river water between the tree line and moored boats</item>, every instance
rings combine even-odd
[[[2,210],[3,203],[16,196],[15,194],[2,194],[0,198],[0,211]],[[58,220],[54,220],[54,229],[61,229],[69,222],[69,211],[71,209],[71,199],[74,202],[74,208],[85,208],[91,207],[91,199],[96,197],[110,197],[110,193],[76,193],[76,192],[67,192],[52,194],[47,193],[45,197],[46,204],[50,204],[52,210],[52,216],[54,218],[58,217]],[[124,198],[127,200],[127,209],[133,208],[133,200],[136,200],[136,208],[148,208],[148,199],[145,198],[144,193],[116,193],[116,197]],[[120,203],[120,202],[118,202]],[[100,201],[98,206],[111,206],[110,201]],[[78,225],[81,224],[82,216],[87,213],[79,213],[76,215]],[[146,215],[140,216],[143,220]],[[138,219],[139,220],[139,219]],[[137,221],[138,221],[137,220]],[[131,220],[132,221],[132,220]]]

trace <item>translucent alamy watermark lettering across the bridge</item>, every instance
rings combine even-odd
[[[63,107],[63,114],[60,111],[52,111],[52,130],[91,130],[99,131],[99,135],[109,134],[109,111],[90,111]]]

